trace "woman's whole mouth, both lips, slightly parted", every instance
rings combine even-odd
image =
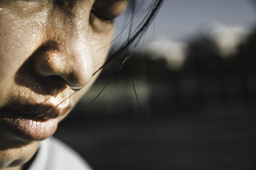
[[[71,107],[72,104],[68,99],[55,106],[53,104],[12,104],[0,108],[0,124],[19,138],[41,141],[54,134],[59,119],[64,117]]]

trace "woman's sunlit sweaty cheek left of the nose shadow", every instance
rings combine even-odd
[[[40,46],[44,35],[44,13],[33,19],[10,14],[8,9],[0,13],[0,96],[13,83],[15,73],[29,56]],[[15,18],[13,20],[13,18]],[[40,18],[40,19],[39,19]],[[12,21],[12,22],[10,22]],[[1,104],[1,101],[0,101]]]

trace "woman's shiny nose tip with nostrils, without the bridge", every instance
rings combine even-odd
[[[42,46],[33,59],[35,72],[44,77],[60,76],[70,89],[80,90],[92,78],[90,50],[81,42],[61,43]]]

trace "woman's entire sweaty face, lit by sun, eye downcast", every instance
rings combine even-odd
[[[126,6],[0,0],[0,169],[28,161],[92,85],[111,45],[111,20]]]

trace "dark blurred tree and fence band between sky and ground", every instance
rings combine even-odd
[[[92,89],[77,104],[74,115],[132,115],[138,93],[145,112],[155,116],[211,113],[212,110],[254,108],[256,101],[255,33],[229,57],[221,57],[217,46],[204,36],[188,43],[186,60],[171,69],[164,59],[136,52],[102,94],[87,108],[115,74],[120,62],[103,71]],[[214,112],[214,111],[213,111]],[[218,115],[217,113],[214,113]]]

